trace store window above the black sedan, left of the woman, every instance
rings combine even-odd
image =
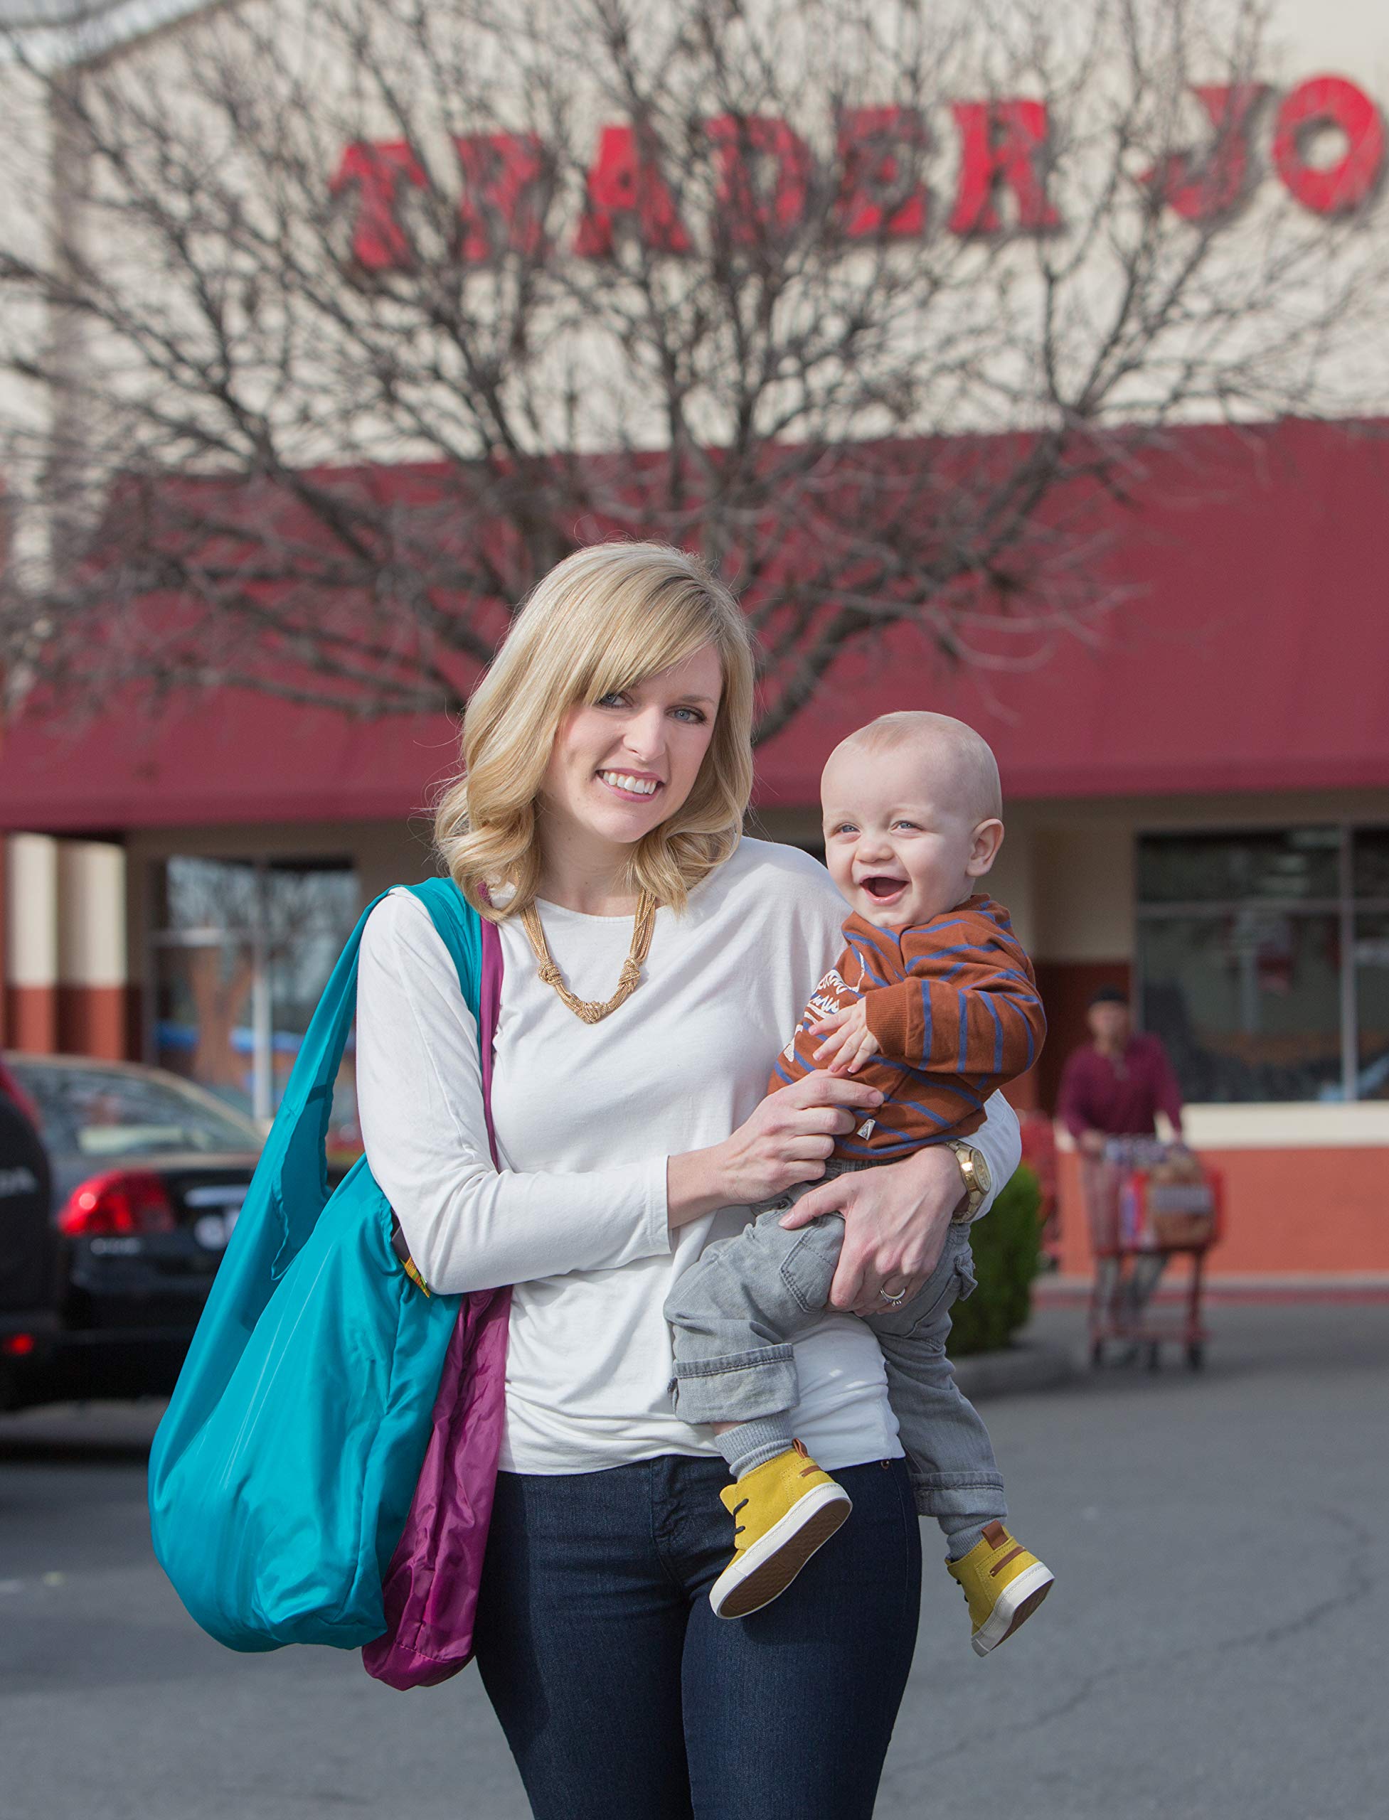
[[[360,914],[344,859],[167,859],[157,868],[147,1054],[268,1119]],[[350,1145],[351,1052],[333,1134]]]

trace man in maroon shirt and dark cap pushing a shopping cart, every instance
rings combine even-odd
[[[1181,1136],[1181,1088],[1156,1036],[1134,1032],[1129,999],[1101,986],[1085,1019],[1092,1041],[1067,1057],[1058,1112],[1081,1154],[1081,1192],[1096,1254],[1096,1301],[1118,1312],[1121,1294],[1138,1314],[1158,1287],[1165,1258],[1136,1258],[1127,1285],[1114,1256],[1120,1234],[1120,1168],[1107,1161],[1110,1138],[1152,1138],[1158,1112]]]

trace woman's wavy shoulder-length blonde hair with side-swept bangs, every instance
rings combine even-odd
[[[683,910],[737,846],[752,795],[752,641],[699,557],[664,544],[590,544],[544,575],[462,717],[462,772],[439,801],[435,846],[482,915],[535,899],[535,803],[561,721],[712,644],[723,670],[714,735],[690,795],[632,850],[628,883]]]

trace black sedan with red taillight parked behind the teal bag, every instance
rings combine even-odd
[[[0,1340],[0,1396],[9,1407],[164,1396],[246,1198],[260,1128],[160,1068],[80,1056],[5,1063],[47,1150],[51,1261],[27,1265],[33,1281],[16,1299],[47,1269],[49,1318],[20,1325],[18,1349]]]

